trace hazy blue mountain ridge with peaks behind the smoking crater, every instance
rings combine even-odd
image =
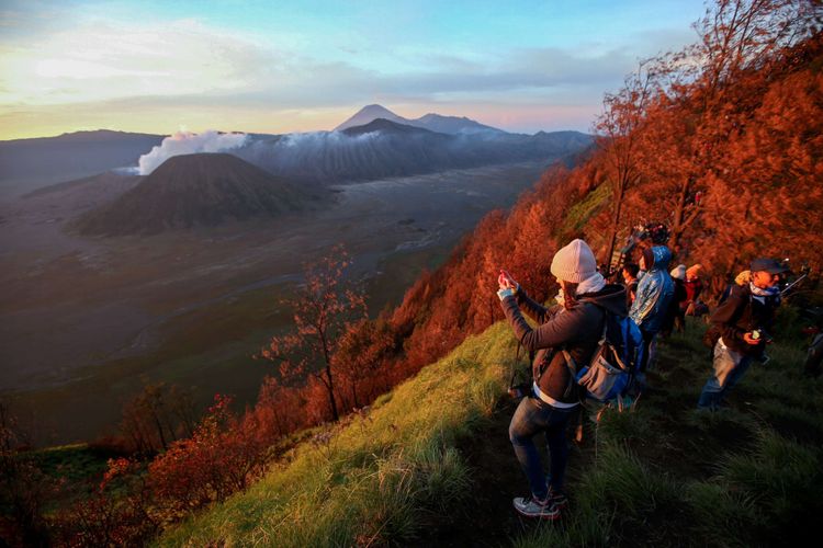
[[[375,118],[342,130],[253,139],[232,153],[277,175],[324,185],[522,161],[548,165],[579,153],[591,141],[591,136],[575,132],[537,137],[504,132],[448,134]]]

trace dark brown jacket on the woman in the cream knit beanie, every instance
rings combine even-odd
[[[607,285],[597,293],[578,295],[577,300],[578,304],[568,310],[562,306],[548,309],[520,289],[500,302],[515,336],[527,351],[535,353],[532,378],[539,379],[540,391],[562,403],[576,403],[578,395],[576,389],[567,390],[570,383],[572,386],[576,383],[571,378],[561,350],[565,349],[577,367],[583,367],[591,361],[602,334],[605,310],[627,315],[625,288],[621,285]],[[520,307],[538,323],[535,329],[522,317]],[[543,366],[546,358],[549,364]]]

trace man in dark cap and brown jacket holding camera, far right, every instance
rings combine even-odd
[[[780,306],[779,275],[786,266],[774,259],[752,261],[751,282],[734,285],[729,298],[711,316],[710,330],[717,342],[714,370],[706,383],[697,407],[715,410],[724,404],[729,390],[740,383],[752,359],[765,361],[777,307]]]

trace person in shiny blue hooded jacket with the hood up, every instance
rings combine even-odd
[[[640,267],[646,273],[638,283],[638,296],[629,310],[629,316],[643,334],[643,358],[638,376],[641,385],[644,383],[646,369],[653,364],[654,340],[663,327],[675,293],[674,282],[666,270],[670,259],[672,252],[665,246],[644,249],[640,259]]]

